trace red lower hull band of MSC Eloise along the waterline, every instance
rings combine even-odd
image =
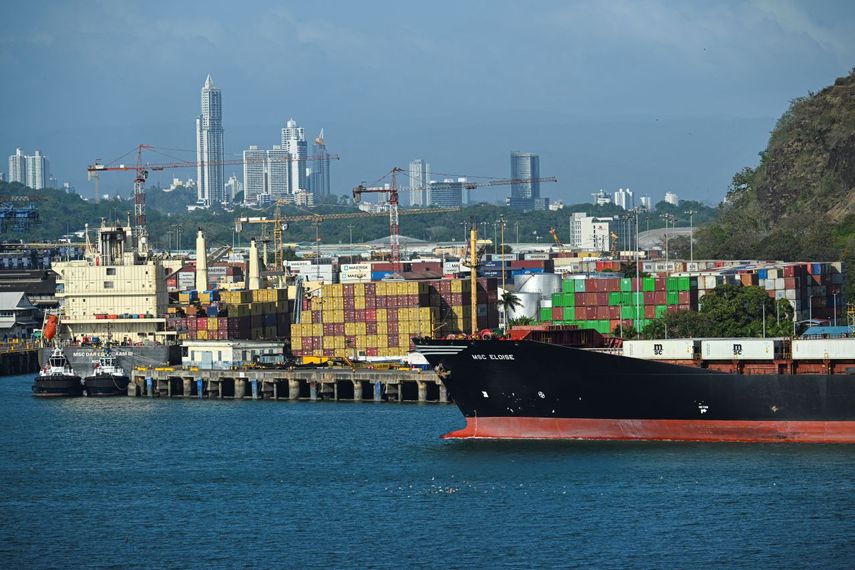
[[[855,420],[622,420],[467,417],[443,439],[589,439],[855,444]]]

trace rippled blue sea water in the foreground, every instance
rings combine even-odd
[[[855,564],[855,446],[443,442],[454,406],[30,382],[0,378],[3,568]]]

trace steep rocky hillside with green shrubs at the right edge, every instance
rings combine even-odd
[[[855,300],[855,69],[796,99],[736,173],[696,257],[843,261]]]

